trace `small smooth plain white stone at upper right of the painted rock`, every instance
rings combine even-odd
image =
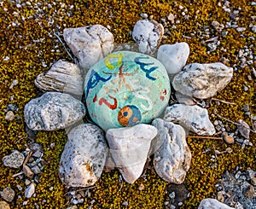
[[[170,74],[179,73],[185,66],[189,57],[189,44],[161,45],[157,52],[157,59],[162,62]]]

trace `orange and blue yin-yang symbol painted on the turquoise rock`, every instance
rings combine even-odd
[[[137,125],[142,119],[141,112],[134,105],[127,105],[120,109],[118,120],[123,126]]]

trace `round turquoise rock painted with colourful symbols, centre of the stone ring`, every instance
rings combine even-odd
[[[170,99],[166,68],[151,56],[114,52],[98,61],[85,77],[90,118],[103,130],[150,123]]]

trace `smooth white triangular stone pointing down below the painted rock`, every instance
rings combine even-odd
[[[107,131],[113,161],[127,183],[134,183],[143,173],[151,141],[157,133],[154,126],[145,124]]]

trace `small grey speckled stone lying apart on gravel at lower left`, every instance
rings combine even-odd
[[[15,150],[12,154],[3,157],[3,165],[12,168],[19,168],[23,164],[24,160],[25,156]]]

